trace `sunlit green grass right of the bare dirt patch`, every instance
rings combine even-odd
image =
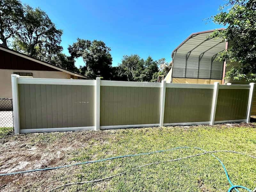
[[[113,131],[107,140],[90,140],[88,147],[74,152],[76,162],[112,156],[143,153],[179,146],[207,151],[235,150],[256,156],[256,130],[253,127],[197,126],[165,127]],[[73,181],[94,180],[129,170],[135,166],[200,153],[197,149],[178,149],[146,156],[128,157],[82,165]],[[217,153],[231,181],[254,189],[256,160],[232,153]],[[151,165],[97,184],[68,187],[70,191],[228,191],[230,187],[221,164],[211,155],[177,162]],[[240,190],[243,191],[243,190]]]

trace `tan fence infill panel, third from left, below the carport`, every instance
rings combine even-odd
[[[166,88],[164,123],[210,121],[213,89]]]

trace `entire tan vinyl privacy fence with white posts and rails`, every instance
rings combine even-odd
[[[12,75],[15,134],[249,122],[254,84],[169,84]]]

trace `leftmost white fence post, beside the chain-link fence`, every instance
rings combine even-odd
[[[14,134],[20,134],[20,112],[19,112],[19,92],[18,78],[19,75],[12,74],[12,105],[13,105],[13,126]]]

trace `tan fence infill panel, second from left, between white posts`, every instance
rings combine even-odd
[[[161,88],[100,87],[100,125],[158,124]]]

